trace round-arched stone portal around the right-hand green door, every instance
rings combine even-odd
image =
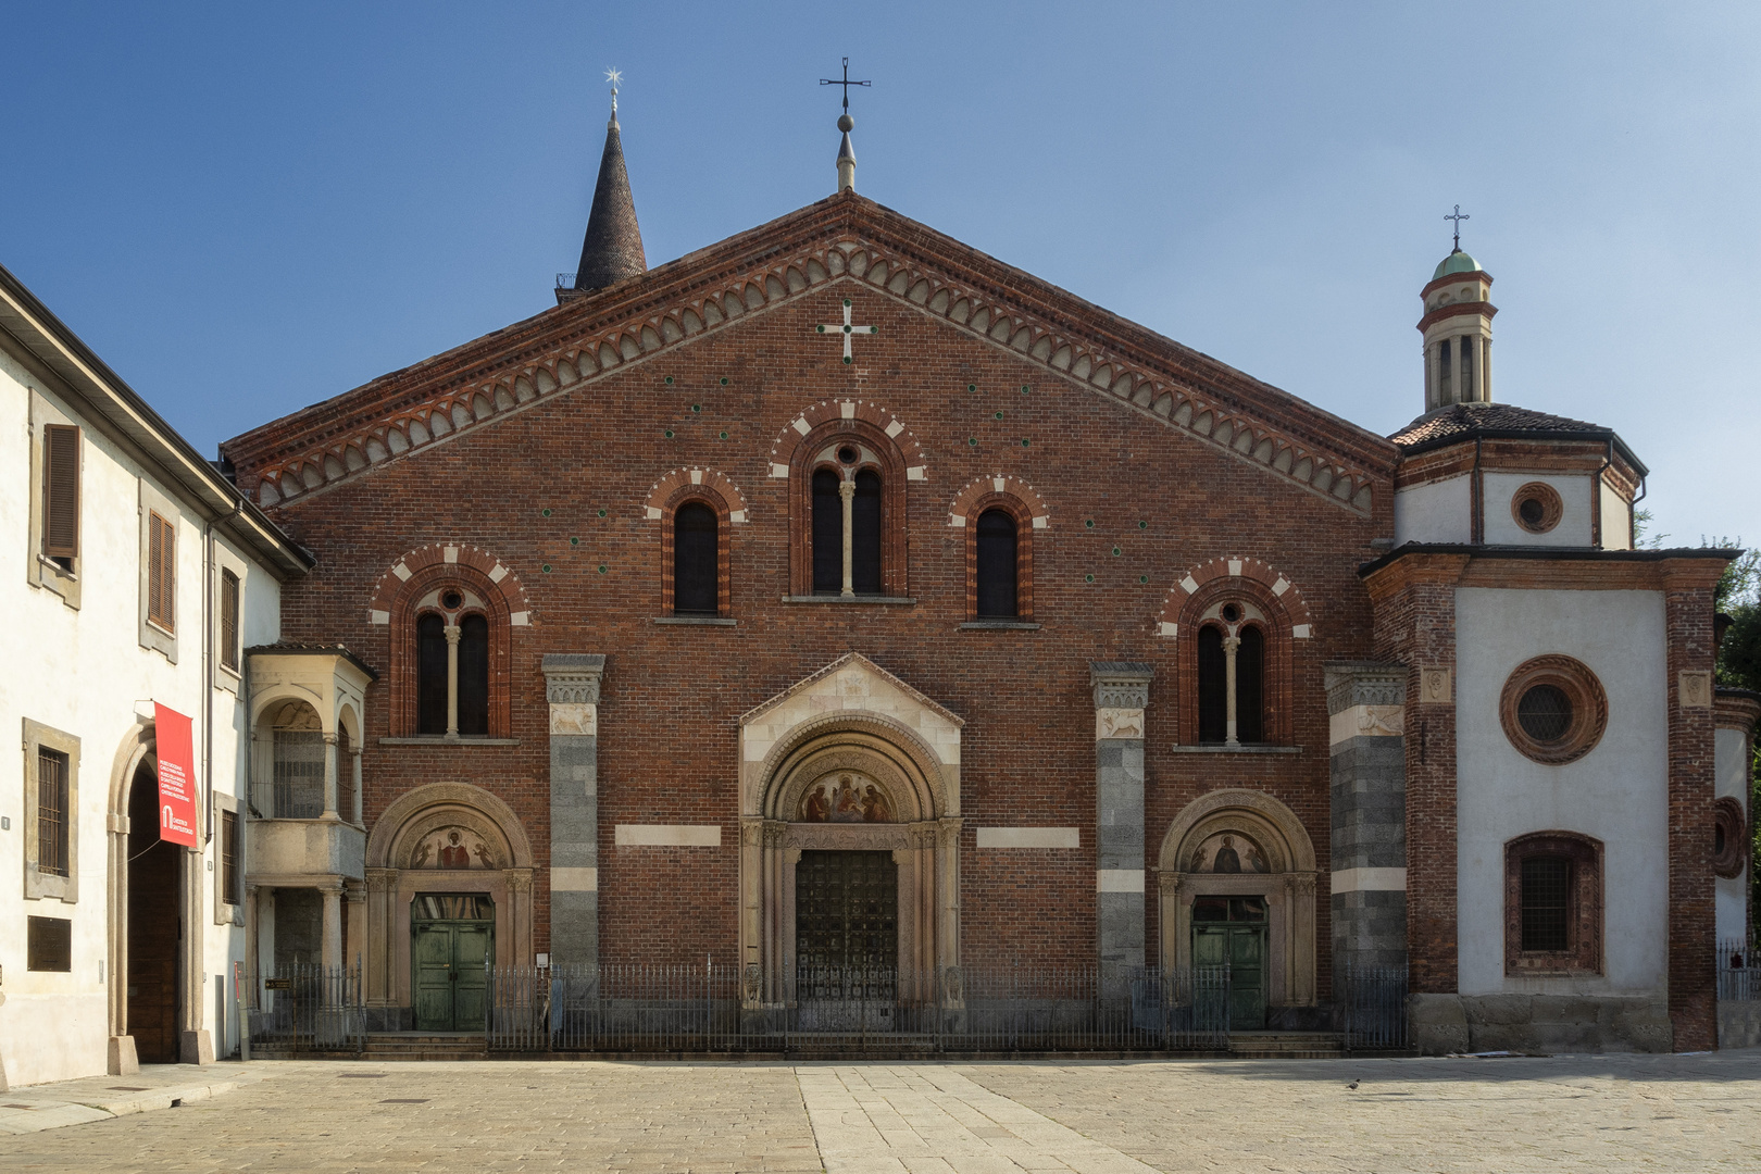
[[[1259,790],[1199,796],[1160,854],[1162,966],[1229,965],[1236,1028],[1315,1002],[1315,854],[1296,813]]]

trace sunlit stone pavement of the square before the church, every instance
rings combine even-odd
[[[259,1061],[150,1075],[171,1088],[190,1074],[204,1088],[236,1088],[162,1112],[0,1135],[0,1170],[1761,1172],[1761,1051],[949,1065]],[[1352,1081],[1358,1088],[1347,1088]],[[86,1082],[16,1090],[0,1104],[83,1104],[70,1084]]]

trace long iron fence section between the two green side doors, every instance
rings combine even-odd
[[[960,1054],[1224,1051],[1227,966],[940,972],[490,966],[497,1051]]]

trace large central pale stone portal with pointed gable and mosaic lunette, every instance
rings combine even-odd
[[[740,958],[747,1005],[784,1002],[812,892],[833,854],[888,854],[895,905],[866,922],[891,942],[831,958],[944,975],[960,965],[960,730],[963,722],[859,653],[847,653],[740,720]],[[882,903],[884,905],[884,903]],[[808,922],[810,924],[810,922]],[[808,931],[812,933],[812,929]],[[854,936],[854,935],[852,935]],[[803,958],[803,947],[807,958]],[[888,949],[891,947],[891,949]],[[856,949],[856,947],[851,947]]]

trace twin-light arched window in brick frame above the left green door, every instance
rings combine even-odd
[[[380,577],[393,737],[511,737],[512,632],[530,611],[514,574],[467,546],[424,546]]]

